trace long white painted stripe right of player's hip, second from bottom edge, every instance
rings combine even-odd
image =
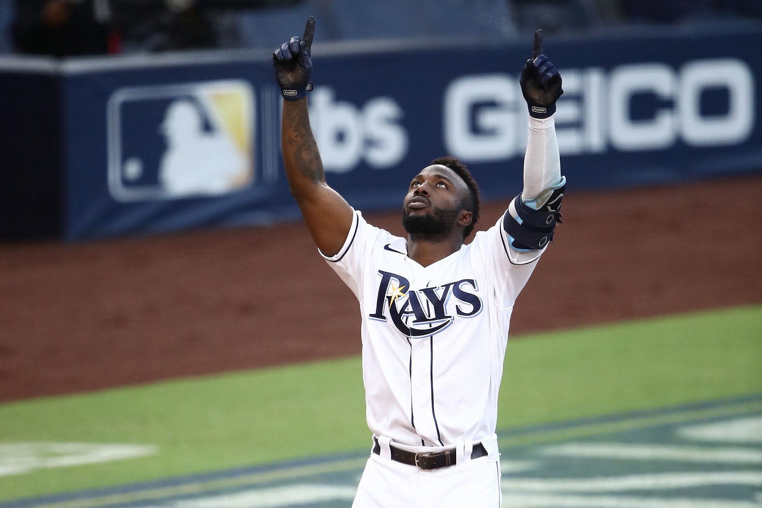
[[[503,478],[503,490],[515,492],[614,492],[619,490],[664,490],[707,485],[762,486],[762,471],[628,474],[597,478]]]

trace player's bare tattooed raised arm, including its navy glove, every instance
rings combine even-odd
[[[349,203],[325,183],[318,145],[309,126],[306,90],[312,71],[310,50],[315,18],[304,37],[291,37],[273,53],[275,77],[283,94],[281,149],[291,194],[302,211],[309,234],[328,257],[338,254],[353,220]]]

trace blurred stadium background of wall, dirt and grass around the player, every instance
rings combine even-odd
[[[357,303],[288,193],[270,62],[310,14],[328,182],[397,234],[445,153],[491,225],[536,28],[562,72],[504,506],[762,506],[762,2],[0,0],[0,508],[351,505]]]

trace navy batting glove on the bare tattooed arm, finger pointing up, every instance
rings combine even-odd
[[[298,101],[312,90],[312,37],[315,37],[315,18],[307,18],[304,37],[291,37],[273,53],[275,80],[286,101]]]

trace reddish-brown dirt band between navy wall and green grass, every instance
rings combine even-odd
[[[760,196],[762,175],[568,193],[512,337],[762,302]],[[402,235],[400,212],[365,215]],[[359,353],[357,300],[303,223],[0,244],[0,401]]]

